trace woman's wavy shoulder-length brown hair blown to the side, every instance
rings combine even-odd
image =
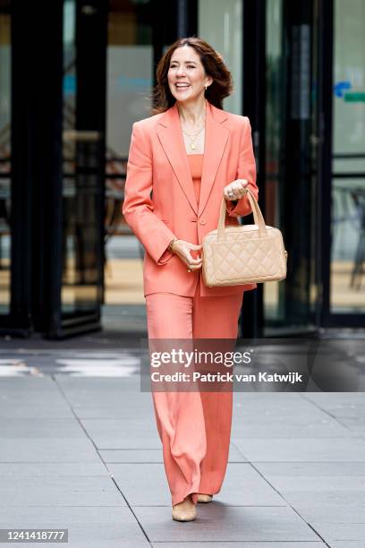
[[[165,112],[168,108],[173,107],[176,101],[168,86],[167,73],[174,50],[183,46],[190,46],[195,49],[205,73],[213,78],[212,83],[205,91],[205,97],[209,103],[223,109],[223,99],[233,93],[232,75],[225,66],[223,57],[216,52],[214,47],[196,37],[178,39],[166,50],[157,64],[157,84],[152,94],[153,107],[151,115]]]

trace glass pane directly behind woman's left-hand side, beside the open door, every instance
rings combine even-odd
[[[122,204],[132,124],[150,114],[153,13],[149,1],[136,3],[132,0],[111,0],[109,5],[105,304],[131,304],[134,314],[134,305],[144,304],[144,251],[124,221]],[[123,312],[126,310],[131,313],[131,309],[123,306]]]

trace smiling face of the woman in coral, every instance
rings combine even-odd
[[[174,50],[167,81],[177,101],[191,102],[204,97],[205,86],[213,80],[205,73],[195,49],[185,45]]]

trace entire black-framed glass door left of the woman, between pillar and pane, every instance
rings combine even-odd
[[[98,327],[103,298],[106,7],[64,1],[61,332]]]

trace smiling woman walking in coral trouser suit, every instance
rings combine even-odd
[[[206,287],[201,240],[250,213],[258,198],[250,122],[225,112],[232,76],[199,38],[177,40],[157,66],[153,116],[132,126],[123,215],[140,239],[149,339],[237,338],[243,292]],[[152,391],[173,518],[196,518],[225,477],[233,393]]]

